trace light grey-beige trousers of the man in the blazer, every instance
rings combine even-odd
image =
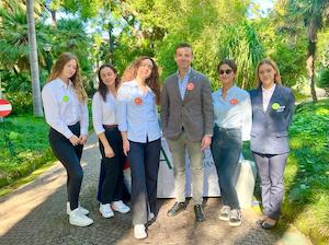
[[[167,140],[172,160],[174,174],[175,201],[185,201],[185,152],[188,150],[190,166],[192,172],[193,203],[202,205],[203,201],[203,152],[201,151],[201,141],[190,141],[185,132],[182,132],[178,139]]]

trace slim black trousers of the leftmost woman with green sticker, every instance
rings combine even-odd
[[[80,124],[69,126],[69,129],[77,137],[80,136]],[[67,194],[71,210],[79,206],[79,194],[83,177],[83,171],[80,165],[83,145],[73,147],[71,142],[60,132],[50,128],[49,143],[55,156],[61,162],[67,172]]]

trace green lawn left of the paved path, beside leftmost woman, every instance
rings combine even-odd
[[[48,126],[44,118],[4,118],[4,122],[0,124],[0,187],[55,160],[47,135]]]

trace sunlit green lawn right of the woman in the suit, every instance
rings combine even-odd
[[[315,244],[329,244],[329,100],[298,105],[290,139],[282,218]],[[252,158],[248,144],[243,154]]]

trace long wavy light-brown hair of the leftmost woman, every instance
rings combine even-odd
[[[80,70],[79,70],[79,67],[80,67],[79,61],[78,61],[78,58],[73,54],[63,52],[58,57],[58,60],[56,61],[55,66],[52,69],[52,72],[49,74],[48,82],[53,81],[54,79],[57,79],[60,75],[65,65],[67,65],[72,59],[77,61],[77,71],[70,78],[70,80],[73,84],[73,88],[76,90],[76,93],[78,95],[79,101],[82,102],[82,103],[87,103],[88,95],[86,93],[86,90],[83,88],[83,83],[82,83],[82,80],[81,80]]]

